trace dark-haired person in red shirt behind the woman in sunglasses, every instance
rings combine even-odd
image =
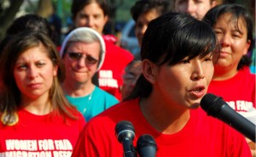
[[[94,77],[94,84],[121,100],[122,75],[125,66],[134,59],[129,51],[115,45],[104,27],[109,19],[109,6],[106,0],[73,0],[71,13],[75,28],[90,27],[102,35],[106,45],[106,56],[102,68]]]

